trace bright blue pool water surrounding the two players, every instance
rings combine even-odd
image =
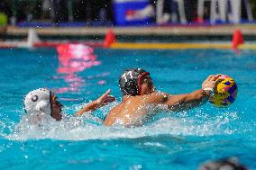
[[[216,49],[96,49],[95,54],[67,64],[55,49],[0,49],[0,169],[197,169],[223,157],[256,169],[255,50],[239,56]],[[118,76],[127,67],[143,67],[157,89],[169,94],[189,93],[206,76],[224,73],[237,82],[238,97],[228,109],[206,103],[188,112],[160,112],[131,129],[107,128],[87,115],[71,117],[108,88],[119,103]],[[35,130],[20,122],[23,96],[45,86],[64,103],[67,119]],[[116,103],[95,114],[104,115]]]

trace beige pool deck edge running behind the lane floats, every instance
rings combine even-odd
[[[7,27],[9,35],[26,35],[30,28]],[[112,29],[116,35],[158,36],[158,35],[232,35],[240,29],[244,35],[256,35],[256,24],[217,25],[217,26],[151,26],[151,27],[47,27],[34,28],[39,35],[105,35]]]

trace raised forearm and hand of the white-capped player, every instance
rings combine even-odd
[[[108,103],[112,103],[115,101],[114,96],[108,95],[111,93],[111,90],[107,90],[105,92],[105,94],[103,94],[102,96],[100,96],[98,99],[96,99],[95,101],[88,103],[83,109],[81,109],[80,111],[78,111],[75,115],[80,116],[82,115],[84,112],[88,112],[88,111],[95,111],[97,108],[100,108]]]

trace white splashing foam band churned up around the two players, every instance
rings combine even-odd
[[[114,103],[116,104],[116,103]],[[113,104],[112,104],[113,105]],[[72,105],[65,111],[78,110],[81,105]],[[105,106],[100,113],[105,114],[112,106]],[[28,139],[55,139],[55,140],[88,140],[88,139],[136,139],[158,135],[181,135],[181,136],[213,136],[233,134],[237,131],[249,130],[239,127],[240,117],[237,112],[222,112],[221,114],[205,112],[195,109],[189,112],[160,112],[154,120],[141,127],[124,128],[123,126],[105,127],[91,114],[72,116],[65,114],[61,121],[47,119],[40,125],[29,123],[26,115],[22,121],[14,126],[14,122],[1,121],[1,136],[12,140]],[[10,134],[4,134],[4,129],[10,129]]]

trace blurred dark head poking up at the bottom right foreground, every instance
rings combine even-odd
[[[199,167],[199,170],[246,170],[246,167],[240,165],[238,160],[232,157],[206,162]]]

